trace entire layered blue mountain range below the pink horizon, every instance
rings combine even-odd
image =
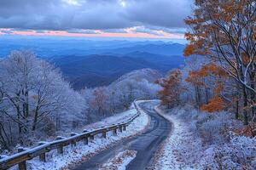
[[[2,37],[0,57],[28,49],[58,67],[73,88],[107,86],[145,68],[167,71],[183,65],[183,44],[166,41],[97,41],[73,38]]]

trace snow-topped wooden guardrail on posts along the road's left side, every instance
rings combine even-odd
[[[119,132],[122,133],[126,130],[126,127],[137,118],[137,116],[140,116],[140,111],[136,101],[137,100],[133,102],[133,105],[137,110],[137,114],[132,116],[126,122],[113,124],[112,126],[108,127],[97,128],[90,132],[84,130],[83,133],[71,133],[69,138],[57,137],[55,141],[49,143],[39,142],[37,147],[28,150],[20,147],[18,148],[19,153],[12,156],[3,157],[3,159],[0,157],[0,169],[8,169],[9,167],[18,165],[19,170],[26,170],[26,161],[32,160],[37,156],[39,156],[40,161],[46,161],[46,153],[51,150],[57,150],[58,154],[63,154],[64,146],[70,144],[76,145],[77,142],[82,140],[84,141],[84,144],[88,144],[90,140],[94,139],[96,134],[102,133],[102,137],[107,138],[107,133],[110,131],[113,131],[113,135],[117,135],[118,129]]]

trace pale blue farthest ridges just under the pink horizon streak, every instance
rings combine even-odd
[[[0,57],[7,56],[12,50],[29,49],[42,58],[60,56],[84,56],[90,54],[127,54],[134,51],[151,54],[182,55],[183,44],[162,41],[109,40],[92,41],[85,39],[61,38],[0,38]]]

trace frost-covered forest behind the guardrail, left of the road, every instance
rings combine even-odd
[[[151,70],[141,74],[147,72],[151,75]],[[0,62],[1,150],[14,150],[17,144],[31,146],[40,139],[71,132],[129,109],[134,99],[154,99],[160,86],[135,78],[75,91],[54,65],[31,51],[13,51]]]

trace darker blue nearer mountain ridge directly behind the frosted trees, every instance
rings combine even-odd
[[[125,73],[140,69],[150,68],[165,73],[183,65],[183,57],[133,52],[123,56],[66,56],[52,62],[61,69],[73,88],[81,89],[109,85]]]

